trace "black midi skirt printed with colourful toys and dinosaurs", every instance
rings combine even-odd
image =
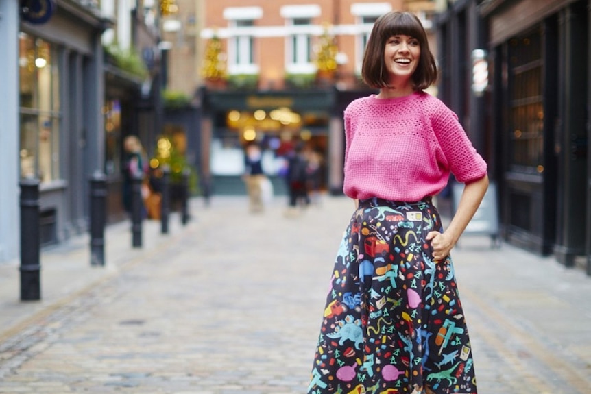
[[[476,394],[451,259],[433,261],[441,232],[430,199],[359,202],[343,234],[309,394]]]

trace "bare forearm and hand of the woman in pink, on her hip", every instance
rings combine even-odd
[[[470,222],[470,219],[472,219],[474,213],[476,213],[476,210],[480,206],[487,188],[487,175],[481,177],[481,179],[477,181],[466,184],[463,188],[463,193],[461,193],[457,210],[450,225],[448,225],[447,230],[442,233],[432,231],[427,234],[426,240],[431,240],[434,260],[443,260],[449,255],[451,249],[455,246],[459,237],[463,233],[463,230],[466,230],[466,226]]]

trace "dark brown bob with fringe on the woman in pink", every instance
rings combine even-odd
[[[437,81],[437,64],[429,50],[429,42],[421,21],[410,12],[388,12],[380,16],[372,29],[363,54],[361,77],[372,88],[387,88],[387,71],[384,67],[386,42],[391,36],[403,34],[419,41],[421,55],[413,73],[414,90],[423,90]]]

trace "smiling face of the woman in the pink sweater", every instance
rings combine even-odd
[[[417,69],[420,56],[421,47],[416,38],[404,34],[388,38],[384,49],[384,62],[390,82],[409,82]]]

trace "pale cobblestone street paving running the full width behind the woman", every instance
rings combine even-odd
[[[197,199],[170,234],[145,222],[139,250],[114,225],[106,267],[85,237],[44,251],[38,302],[18,301],[18,262],[0,266],[0,393],[304,393],[353,203],[285,202]],[[483,236],[453,258],[480,394],[591,393],[591,278]]]

